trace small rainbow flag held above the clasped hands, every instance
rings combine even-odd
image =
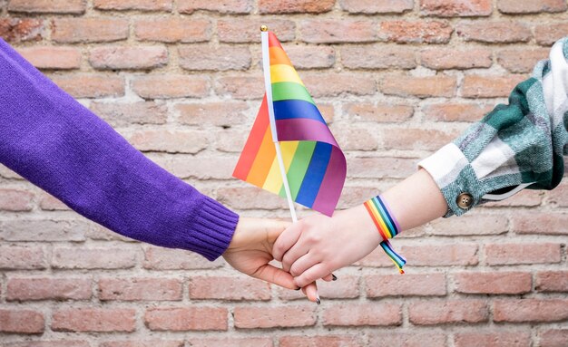
[[[264,62],[264,66],[269,66],[270,90],[260,105],[233,177],[287,198],[276,152],[279,146],[290,198],[331,216],[345,182],[345,156],[276,35],[263,34],[268,34],[269,53],[264,56],[269,64]]]

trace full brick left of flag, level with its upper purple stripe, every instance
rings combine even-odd
[[[142,151],[197,153],[207,147],[208,140],[200,130],[145,130],[132,134],[129,142]]]

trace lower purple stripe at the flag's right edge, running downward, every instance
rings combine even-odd
[[[331,149],[331,157],[329,158],[328,170],[321,182],[318,197],[316,197],[311,208],[331,217],[335,207],[338,205],[346,175],[347,163],[345,157],[341,149],[333,147]]]

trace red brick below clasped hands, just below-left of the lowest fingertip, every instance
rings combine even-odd
[[[234,309],[235,328],[287,328],[312,326],[316,323],[316,306],[243,306]]]

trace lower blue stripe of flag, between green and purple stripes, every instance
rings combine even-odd
[[[309,161],[306,176],[299,188],[296,202],[305,207],[312,207],[318,197],[319,187],[328,170],[329,158],[331,157],[331,145],[325,142],[317,142],[314,154]]]

